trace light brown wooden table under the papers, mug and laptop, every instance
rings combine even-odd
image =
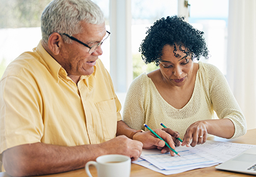
[[[235,138],[232,140],[226,140],[223,138],[218,138],[218,137],[211,137],[208,138],[208,140],[215,140],[215,141],[225,141],[225,142],[232,142],[232,143],[242,143],[242,144],[255,144],[256,145],[256,129],[248,130],[246,135],[241,136],[239,138]],[[93,176],[97,176],[97,171],[95,167],[90,167],[91,174]],[[58,173],[54,175],[44,175],[42,177],[85,177],[87,176],[85,173],[85,169],[81,168],[79,170],[73,170],[73,171],[68,171],[66,173]],[[141,176],[146,176],[146,177],[163,177],[166,175],[162,175],[162,173],[157,173],[153,170],[149,170],[148,168],[142,167],[140,165],[136,165],[134,163],[131,164],[131,177],[141,177]],[[167,176],[213,176],[213,177],[223,177],[223,176],[254,176],[254,175],[246,175],[242,173],[234,173],[234,172],[229,172],[229,171],[221,171],[221,170],[216,170],[215,166],[213,167],[207,167],[207,168],[200,168],[196,170],[190,170],[190,171],[185,171],[183,173],[178,173],[175,175],[167,175]],[[0,173],[0,177],[10,177],[7,175],[7,173]],[[122,176],[121,176],[122,177]]]

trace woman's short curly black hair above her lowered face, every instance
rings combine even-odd
[[[142,60],[148,64],[154,62],[156,66],[160,64],[163,46],[169,44],[175,47],[180,45],[186,55],[191,55],[191,59],[199,60],[200,56],[208,58],[209,50],[203,37],[204,32],[192,27],[184,22],[184,17],[177,15],[161,18],[157,20],[146,32],[147,36],[141,42],[139,52]],[[175,53],[175,51],[173,51]],[[176,56],[178,57],[178,56]]]

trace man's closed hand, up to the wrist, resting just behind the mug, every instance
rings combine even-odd
[[[106,154],[122,154],[137,160],[142,152],[143,144],[136,140],[131,140],[125,135],[117,136],[116,138],[101,143],[100,146],[105,149]]]

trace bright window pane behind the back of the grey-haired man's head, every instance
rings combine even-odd
[[[0,77],[10,61],[41,39],[40,18],[51,0],[0,0]]]

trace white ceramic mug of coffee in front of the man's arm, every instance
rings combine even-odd
[[[93,177],[89,171],[89,165],[97,168],[98,177],[130,177],[131,159],[126,155],[102,155],[97,157],[96,162],[87,162],[85,171],[89,177]]]

